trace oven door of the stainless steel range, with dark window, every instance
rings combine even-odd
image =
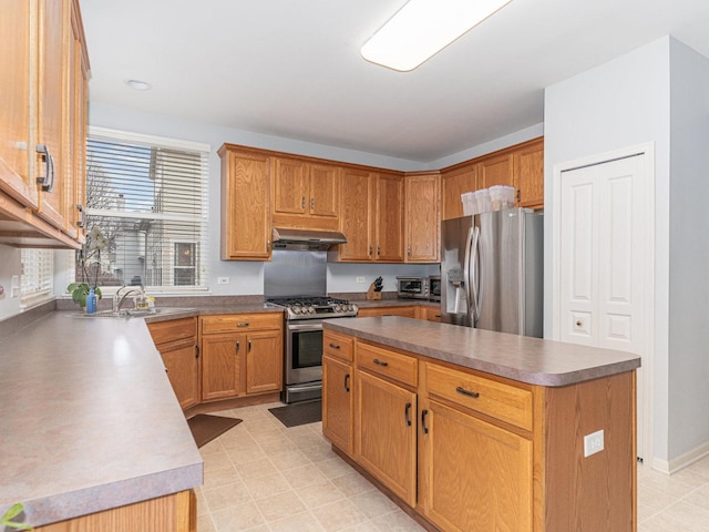
[[[286,385],[322,380],[322,320],[286,321]]]

